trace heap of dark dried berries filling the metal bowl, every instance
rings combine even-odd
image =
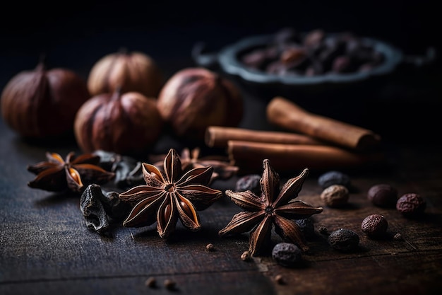
[[[240,59],[268,74],[319,76],[368,71],[382,64],[385,56],[366,38],[350,32],[328,34],[317,29],[303,34],[284,28],[268,45],[244,52]]]

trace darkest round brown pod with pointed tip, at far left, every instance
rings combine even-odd
[[[80,106],[90,98],[86,81],[70,69],[20,71],[1,93],[1,115],[23,137],[49,138],[72,132]]]

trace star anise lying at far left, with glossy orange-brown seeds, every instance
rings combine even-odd
[[[100,156],[82,154],[76,156],[73,151],[63,159],[57,153],[46,153],[47,161],[28,166],[28,171],[36,174],[29,187],[51,192],[71,190],[81,192],[87,185],[107,183],[114,178],[114,173],[104,170]]]

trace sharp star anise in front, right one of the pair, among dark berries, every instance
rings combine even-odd
[[[275,226],[275,232],[283,240],[299,245],[304,251],[308,250],[303,233],[293,219],[304,219],[323,210],[321,207],[294,200],[301,191],[309,169],[306,168],[297,177],[289,179],[280,190],[279,175],[271,168],[270,161],[265,159],[263,166],[261,196],[250,190],[225,192],[244,211],[233,216],[229,224],[220,230],[220,236],[250,231],[249,251],[251,255],[258,255],[270,243],[271,231]]]

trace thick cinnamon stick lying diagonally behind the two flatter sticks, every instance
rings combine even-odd
[[[268,121],[274,125],[347,148],[373,149],[381,141],[369,129],[313,114],[279,96],[270,100],[266,112]]]

